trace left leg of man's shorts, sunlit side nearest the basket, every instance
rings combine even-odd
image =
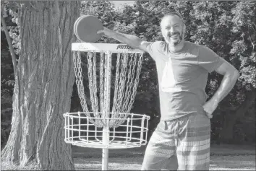
[[[173,132],[174,124],[171,121],[158,123],[148,142],[141,170],[161,170],[166,165],[169,167],[168,170],[172,170],[171,167],[176,167],[176,159],[170,161],[176,149]]]

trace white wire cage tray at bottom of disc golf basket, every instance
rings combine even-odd
[[[98,128],[90,120],[99,118],[88,118],[85,113],[65,113],[64,140],[74,146],[98,149],[128,149],[147,144],[150,117],[134,113],[125,115],[127,118],[122,118],[124,122],[116,128]]]

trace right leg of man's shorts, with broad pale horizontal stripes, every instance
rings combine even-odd
[[[210,119],[206,115],[189,115],[179,120],[176,154],[178,170],[209,170]]]

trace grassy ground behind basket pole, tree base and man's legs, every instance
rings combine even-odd
[[[140,170],[145,146],[134,149],[109,149],[108,170]],[[72,146],[76,170],[101,170],[101,149]],[[35,167],[12,167],[1,170],[36,170]],[[212,145],[210,170],[255,170],[255,146]]]

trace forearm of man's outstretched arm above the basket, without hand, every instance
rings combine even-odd
[[[118,40],[121,43],[132,46],[133,48],[139,48],[142,40],[135,35],[127,35],[119,32],[113,32],[111,38]]]

